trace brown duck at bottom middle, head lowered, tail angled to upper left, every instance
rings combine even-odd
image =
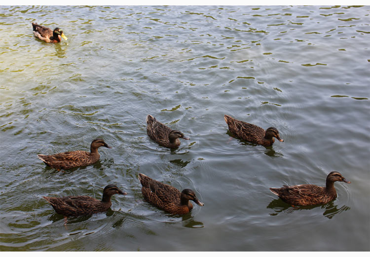
[[[199,206],[204,205],[191,189],[184,189],[180,192],[178,189],[151,179],[142,173],[139,173],[139,180],[143,186],[141,192],[144,199],[165,212],[180,215],[186,214],[193,208],[189,200],[192,200]]]

